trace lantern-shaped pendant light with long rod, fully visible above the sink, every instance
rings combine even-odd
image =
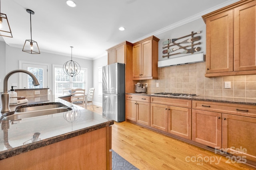
[[[30,39],[27,39],[24,43],[22,51],[30,54],[40,54],[37,42],[32,40],[32,28],[31,28],[31,14],[34,15],[34,11],[26,10],[30,14]],[[27,49],[27,50],[26,50]]]

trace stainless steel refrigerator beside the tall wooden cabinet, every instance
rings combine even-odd
[[[102,114],[114,121],[125,121],[125,65],[102,67]]]

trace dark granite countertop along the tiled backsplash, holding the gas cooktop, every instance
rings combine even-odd
[[[143,96],[156,96],[162,98],[178,98],[178,99],[188,99],[188,100],[199,100],[199,101],[208,101],[208,102],[222,102],[222,103],[231,103],[231,104],[246,104],[246,105],[255,105],[256,99],[252,98],[229,98],[229,97],[215,97],[215,96],[196,96],[192,98],[180,97],[180,96],[160,96],[154,95],[152,93],[126,93],[132,95],[143,95]]]

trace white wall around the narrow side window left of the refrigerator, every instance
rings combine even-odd
[[[102,106],[102,97],[98,96],[98,67],[108,64],[108,56],[101,57],[93,61],[93,86],[95,88],[93,103],[98,106]]]

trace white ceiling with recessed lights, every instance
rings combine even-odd
[[[132,43],[156,35],[239,0],[1,0],[1,13],[7,15],[13,38],[8,45],[22,48],[30,39],[40,51],[85,59],[106,55],[106,49],[123,41]],[[182,22],[183,21],[183,22]],[[120,26],[125,27],[119,31]],[[2,36],[0,36],[2,37]]]

